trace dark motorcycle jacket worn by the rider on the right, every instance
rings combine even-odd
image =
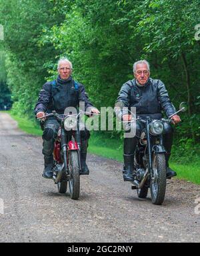
[[[152,78],[144,86],[138,86],[135,79],[129,80],[121,87],[117,101],[128,109],[136,107],[139,116],[161,118],[162,110],[167,117],[176,112],[163,82]],[[122,114],[128,114],[128,110],[123,109]]]

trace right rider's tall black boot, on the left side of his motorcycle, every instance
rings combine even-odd
[[[133,181],[133,154],[124,154],[123,180]]]

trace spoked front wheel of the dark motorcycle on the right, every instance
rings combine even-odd
[[[151,173],[151,200],[154,205],[161,205],[165,199],[166,164],[165,154],[153,153],[153,173]]]

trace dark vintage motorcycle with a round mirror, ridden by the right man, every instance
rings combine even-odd
[[[121,107],[121,102],[115,105]],[[185,112],[187,104],[182,102],[179,111],[169,116],[168,119],[153,120],[150,117],[137,117],[129,122],[144,124],[139,143],[135,150],[132,189],[137,189],[139,198],[147,197],[148,189],[151,190],[151,201],[154,205],[161,205],[165,199],[166,189],[166,162],[165,147],[163,145],[164,122],[173,122],[171,117],[178,112]]]

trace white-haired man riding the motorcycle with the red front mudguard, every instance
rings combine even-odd
[[[72,70],[72,63],[69,59],[59,59],[57,80],[45,83],[39,92],[39,99],[34,109],[37,118],[41,118],[45,116],[45,112],[51,113],[53,110],[58,114],[64,114],[65,108],[77,108],[79,102],[85,102],[85,110],[87,112],[99,114],[99,110],[89,102],[84,86],[73,80],[71,76]],[[59,123],[55,118],[50,117],[45,120],[42,151],[45,160],[44,178],[52,178],[53,176],[53,146],[58,130]],[[89,136],[88,130],[81,130],[81,174],[89,174],[89,169],[85,162]]]

